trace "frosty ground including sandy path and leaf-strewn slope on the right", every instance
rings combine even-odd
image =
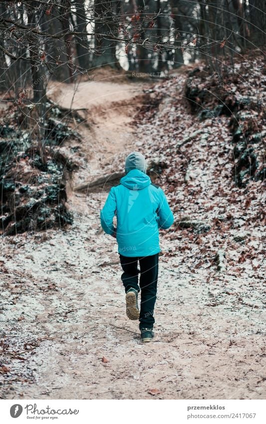
[[[78,166],[65,176],[73,224],[1,240],[2,399],[265,398],[263,181],[237,186],[231,117],[196,119],[181,101],[188,72],[176,86],[112,78],[77,89],[90,127],[79,125]],[[69,107],[71,89],[51,96]],[[175,214],[161,234],[149,345],[125,315],[115,240],[99,230],[110,184],[74,191],[122,170],[132,149],[157,163]]]

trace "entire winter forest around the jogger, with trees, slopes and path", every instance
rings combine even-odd
[[[0,1],[0,399],[265,399],[266,2]],[[100,210],[141,152],[153,343]]]

